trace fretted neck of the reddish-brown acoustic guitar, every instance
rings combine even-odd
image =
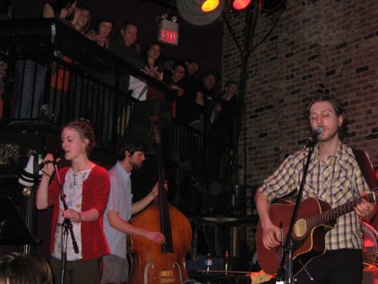
[[[375,203],[377,199],[377,192],[372,192],[370,194],[366,194],[363,197],[360,197],[352,202],[347,202],[345,204],[340,205],[339,207],[332,208],[331,210],[324,211],[322,214],[315,215],[307,219],[307,226],[308,228],[315,228],[320,226],[324,223],[327,223],[331,220],[337,219],[340,216],[348,214],[351,211],[354,211],[355,207],[357,206],[358,202],[365,199],[367,202]]]

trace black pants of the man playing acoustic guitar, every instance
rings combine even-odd
[[[357,249],[327,251],[305,268],[307,272],[302,270],[296,275],[296,284],[361,284],[362,252]]]

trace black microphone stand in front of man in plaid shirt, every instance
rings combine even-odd
[[[301,184],[299,186],[298,194],[296,195],[296,205],[294,206],[293,214],[291,215],[290,226],[288,228],[288,235],[286,236],[285,243],[282,245],[282,257],[281,262],[279,263],[279,271],[277,272],[277,281],[278,284],[283,283],[294,283],[295,279],[293,276],[293,228],[296,223],[296,217],[300,208],[302,201],[302,195],[305,188],[305,177],[307,176],[308,167],[310,166],[311,156],[314,152],[314,146],[317,140],[308,141],[306,148],[308,148],[308,155],[305,161],[305,168],[303,169],[303,176]],[[281,226],[281,225],[280,225]],[[286,265],[285,265],[286,264]],[[286,266],[286,267],[285,267]],[[286,271],[286,277],[284,279],[284,273]]]

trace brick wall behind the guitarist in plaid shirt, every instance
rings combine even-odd
[[[245,13],[228,18],[243,46]],[[259,15],[253,44],[277,18]],[[223,81],[238,80],[240,53],[226,26],[222,65]],[[242,168],[247,158],[247,184],[260,185],[286,154],[303,147],[309,135],[305,104],[321,93],[344,103],[350,133],[344,142],[368,151],[378,166],[377,83],[377,1],[289,0],[276,28],[249,60],[246,125],[239,143]]]

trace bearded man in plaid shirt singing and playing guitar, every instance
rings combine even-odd
[[[372,202],[361,198],[365,196],[365,192],[370,191],[369,186],[358,168],[352,149],[341,142],[347,117],[337,99],[324,95],[315,97],[308,104],[306,116],[311,129],[320,127],[322,133],[317,139],[318,143],[314,146],[314,154],[310,160],[303,200],[322,200],[330,205],[330,209],[343,207],[342,204],[348,202],[355,203],[352,203],[351,211],[339,214],[333,224],[319,226],[324,231],[324,251],[312,257],[309,262],[301,262],[302,269],[295,273],[296,283],[360,284],[363,271],[363,241],[358,219],[371,219],[375,209]],[[258,249],[259,259],[264,257],[262,254],[277,252],[283,241],[281,236],[286,237],[282,234],[282,221],[277,218],[274,220],[271,216],[270,202],[299,188],[307,153],[308,149],[304,149],[288,156],[257,191],[255,202],[262,232],[261,249]],[[360,199],[356,201],[358,198]],[[301,206],[299,210],[298,219],[301,218],[301,210],[305,209],[303,207],[305,206]],[[308,222],[308,219],[305,220]],[[308,223],[306,225],[309,226]],[[308,230],[304,234],[305,237],[311,235],[310,233]],[[316,236],[310,236],[309,246],[313,246],[317,237],[318,233]],[[296,242],[296,238],[294,241]],[[257,245],[259,246],[259,241]],[[264,270],[264,267],[262,269]]]

